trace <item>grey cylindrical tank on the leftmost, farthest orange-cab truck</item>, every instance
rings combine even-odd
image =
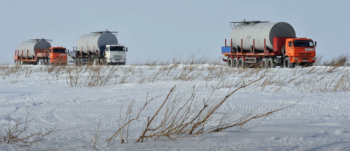
[[[50,41],[50,40],[48,40]],[[37,49],[50,49],[51,44],[46,41],[46,39],[30,39],[29,41],[23,41],[18,46],[19,56],[22,55],[23,50],[23,58],[34,59],[35,58],[35,50]],[[52,40],[51,40],[52,41]],[[28,54],[27,54],[28,50]]]

